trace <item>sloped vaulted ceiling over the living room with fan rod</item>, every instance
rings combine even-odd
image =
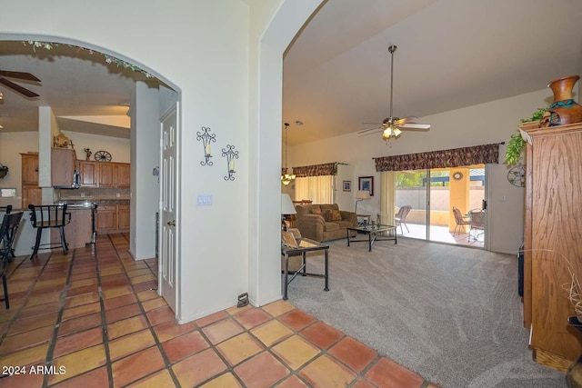
[[[581,74],[581,18],[579,0],[329,0],[285,56],[288,142],[382,123],[390,45],[393,112],[419,122]]]

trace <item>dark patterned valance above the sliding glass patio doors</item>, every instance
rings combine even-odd
[[[406,171],[499,163],[499,143],[419,154],[376,157],[376,171]]]

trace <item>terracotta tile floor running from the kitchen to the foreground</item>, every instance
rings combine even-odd
[[[127,249],[111,234],[95,251],[15,258],[0,387],[436,387],[282,300],[178,325],[156,259]]]

